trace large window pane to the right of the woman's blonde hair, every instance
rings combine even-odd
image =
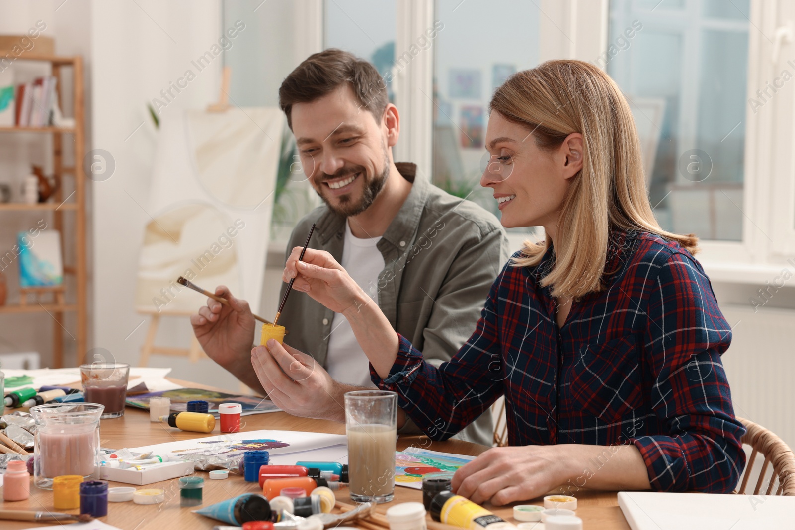
[[[604,64],[630,101],[665,230],[743,238],[749,0],[613,0]]]

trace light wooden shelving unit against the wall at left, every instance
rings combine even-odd
[[[0,56],[6,52],[0,51]],[[76,362],[80,365],[85,360],[88,341],[88,316],[87,316],[87,273],[86,273],[86,176],[83,172],[83,157],[85,156],[85,107],[83,88],[83,57],[81,56],[50,56],[23,54],[17,60],[43,61],[52,65],[52,75],[58,79],[56,89],[58,103],[62,103],[62,77],[61,68],[72,68],[72,98],[74,127],[0,127],[0,133],[44,133],[52,134],[52,169],[60,179],[60,187],[51,203],[0,204],[0,215],[5,212],[52,211],[52,228],[60,231],[61,248],[69,246],[74,249],[74,263],[68,265],[64,262],[64,284],[56,288],[21,288],[21,303],[0,306],[0,315],[44,313],[52,317],[52,365],[60,368],[64,365],[64,332],[70,340],[76,341]],[[63,106],[61,106],[63,108]],[[64,135],[66,135],[64,139]],[[74,167],[65,167],[63,149],[72,143],[74,152]],[[73,179],[74,191],[64,195],[65,176]],[[74,234],[64,234],[64,212],[75,216]],[[18,215],[18,214],[17,214]],[[67,242],[68,245],[66,244]],[[64,252],[65,255],[65,252]],[[75,277],[75,292],[67,292],[66,276]],[[41,298],[49,300],[41,300]],[[71,300],[71,301],[70,301]],[[72,335],[64,328],[64,313],[76,313],[76,333]],[[48,318],[49,318],[48,317]],[[41,316],[39,317],[41,318]]]

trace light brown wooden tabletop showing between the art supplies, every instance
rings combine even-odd
[[[173,380],[192,388],[207,388],[204,385],[196,385],[187,381]],[[76,385],[79,386],[79,385]],[[329,434],[345,434],[345,425],[328,420],[309,420],[291,416],[286,412],[271,412],[269,414],[258,414],[254,416],[244,416],[244,431],[256,431],[258,429],[274,429],[282,431],[312,431],[325,432]],[[218,435],[218,427],[215,427],[209,435]],[[149,412],[127,407],[124,416],[101,420],[100,436],[102,447],[112,447],[120,449],[122,447],[139,447],[153,443],[173,442],[179,439],[200,438],[201,433],[185,432],[169,427],[167,424],[152,423],[149,421]],[[209,436],[208,435],[208,436]],[[444,451],[460,455],[479,455],[487,447],[475,443],[463,442],[460,440],[449,440],[447,442],[433,442],[425,437],[401,436],[397,441],[397,450],[405,450],[406,447],[424,447],[433,451]],[[203,476],[204,480],[204,506],[214,502],[223,501],[230,497],[235,497],[241,493],[261,491],[258,485],[252,482],[245,482],[242,476],[230,474],[226,480],[209,480],[204,471],[197,471],[196,474]],[[121,482],[111,482],[114,486],[131,486]],[[219,521],[209,519],[191,513],[192,508],[180,507],[180,493],[176,487],[176,479],[164,482],[156,482],[146,486],[135,486],[140,488],[160,488],[166,492],[166,500],[160,505],[136,505],[130,502],[111,502],[108,503],[108,514],[101,518],[107,524],[112,524],[123,530],[194,530],[198,528],[212,528]],[[346,490],[340,490],[337,495],[339,501],[351,502]],[[582,490],[576,494],[578,499],[577,516],[584,521],[585,530],[598,530],[601,528],[609,530],[629,530],[615,492],[596,492]],[[391,505],[406,501],[422,501],[422,492],[418,489],[410,489],[402,486],[395,486],[394,501],[379,505],[378,512],[386,513],[386,509]],[[533,504],[542,504],[541,498],[527,501]],[[520,503],[517,503],[520,504]],[[523,503],[522,503],[523,504]],[[52,491],[38,489],[31,484],[30,498],[26,501],[2,502],[3,509],[31,509],[31,510],[52,510]],[[494,507],[487,506],[494,513],[502,516],[505,520],[513,521],[512,506]],[[80,513],[80,510],[64,510],[68,513]],[[48,523],[29,523],[24,521],[0,521],[3,530],[16,530],[17,528],[30,528],[35,526],[45,526],[54,524]]]

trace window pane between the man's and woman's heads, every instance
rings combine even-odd
[[[509,75],[538,64],[540,16],[525,0],[502,2],[499,10],[491,2],[436,0],[434,18],[444,29],[433,66],[432,182],[498,217],[491,189],[479,184],[488,161],[488,104]]]

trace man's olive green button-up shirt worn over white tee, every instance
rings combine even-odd
[[[378,307],[395,331],[439,366],[475,331],[489,288],[509,257],[508,240],[497,218],[482,207],[422,178],[415,180],[415,164],[395,165],[413,185],[378,242],[386,264],[378,275]],[[287,255],[304,245],[313,222],[317,226],[309,245],[342,262],[347,218],[325,205],[298,222]],[[282,285],[281,296],[286,287]],[[326,366],[333,319],[334,311],[295,291],[279,323],[289,330],[287,344]],[[493,431],[491,414],[486,412],[456,438],[491,446]],[[420,431],[409,420],[400,432]]]

